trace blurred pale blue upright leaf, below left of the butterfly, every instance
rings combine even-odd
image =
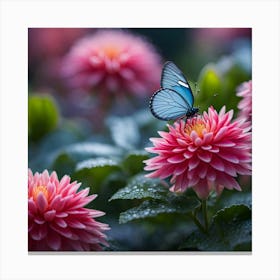
[[[107,120],[112,139],[119,147],[130,150],[140,141],[140,133],[135,120],[131,117],[111,117]]]

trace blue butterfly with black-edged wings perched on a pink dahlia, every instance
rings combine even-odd
[[[182,71],[173,62],[166,62],[161,74],[161,89],[150,100],[152,114],[165,121],[190,118],[198,112],[193,103],[191,87]]]

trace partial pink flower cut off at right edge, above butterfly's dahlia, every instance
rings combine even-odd
[[[242,83],[237,89],[237,96],[242,97],[237,105],[238,117],[252,120],[252,81]]]

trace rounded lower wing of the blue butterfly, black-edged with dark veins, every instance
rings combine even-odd
[[[156,118],[169,121],[186,116],[186,113],[191,110],[191,106],[181,94],[165,88],[153,94],[150,109]]]

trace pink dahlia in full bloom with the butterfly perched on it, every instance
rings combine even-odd
[[[237,174],[251,174],[251,133],[242,120],[231,121],[233,111],[213,107],[202,116],[168,125],[161,138],[151,138],[154,147],[146,148],[156,157],[146,160],[145,170],[152,178],[171,176],[171,191],[192,187],[201,199],[211,190],[241,190]]]

